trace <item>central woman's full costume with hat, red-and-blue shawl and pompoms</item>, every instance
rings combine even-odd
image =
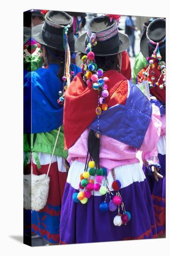
[[[107,16],[90,20],[87,33],[76,42],[78,51],[87,55],[82,57],[82,73],[65,92],[65,149],[71,167],[60,244],[157,236],[150,188],[136,153],[155,148],[159,108],[152,110],[145,95],[118,71],[105,72],[95,62],[95,55],[119,54],[128,46],[117,20]],[[87,146],[90,130],[94,141],[100,140],[98,165]]]

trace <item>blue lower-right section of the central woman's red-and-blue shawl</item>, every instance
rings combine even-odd
[[[148,98],[128,81],[125,105],[117,104],[103,111],[99,117],[101,134],[135,148],[140,148],[150,124],[152,108]],[[97,131],[98,117],[90,125]]]

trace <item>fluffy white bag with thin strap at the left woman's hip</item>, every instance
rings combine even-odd
[[[59,131],[60,131],[59,127]],[[52,157],[59,138],[59,131],[52,152]],[[39,211],[46,206],[48,199],[50,177],[49,171],[52,163],[52,157],[48,166],[47,174],[33,174],[33,160],[31,160],[31,174],[24,175],[24,209]],[[33,159],[33,157],[31,157]]]

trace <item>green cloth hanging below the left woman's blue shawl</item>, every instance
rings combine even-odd
[[[46,153],[46,154],[52,155],[52,151],[53,151],[54,144],[56,141],[57,133],[58,133],[58,129],[52,130],[51,132],[38,133],[34,146],[33,146],[33,134],[32,134],[31,135],[31,145],[32,145],[31,148],[32,148],[33,152],[41,152],[41,153]],[[30,152],[26,134],[24,134],[24,152]],[[58,156],[61,156],[64,158],[67,158],[67,156],[68,156],[67,150],[64,150],[63,126],[60,129],[59,139],[58,139],[55,151],[54,151],[54,155],[58,155]]]

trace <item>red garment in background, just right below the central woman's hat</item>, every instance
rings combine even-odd
[[[131,79],[131,62],[126,51],[122,53],[122,67],[120,72],[127,80]]]

